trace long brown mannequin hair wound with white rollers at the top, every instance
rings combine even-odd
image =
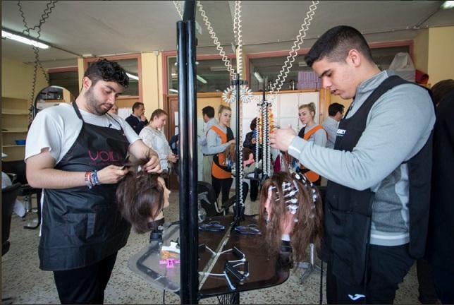
[[[319,191],[311,186],[309,180],[305,182],[302,174],[289,174],[288,172],[276,172],[271,178],[266,179],[262,185],[259,205],[259,226],[264,232],[265,242],[270,254],[278,253],[281,249],[281,238],[286,226],[291,226],[289,221],[294,222],[290,232],[290,245],[293,248],[295,261],[304,261],[309,243],[313,243],[319,250],[323,236],[323,209]],[[283,183],[297,186],[294,196],[283,198],[286,195],[282,190]],[[274,187],[270,189],[270,187]],[[271,191],[271,194],[269,194]],[[269,201],[269,210],[266,209],[266,201]],[[286,201],[295,198],[297,210],[291,215]],[[276,201],[276,199],[278,199]],[[295,222],[297,220],[297,222]]]

